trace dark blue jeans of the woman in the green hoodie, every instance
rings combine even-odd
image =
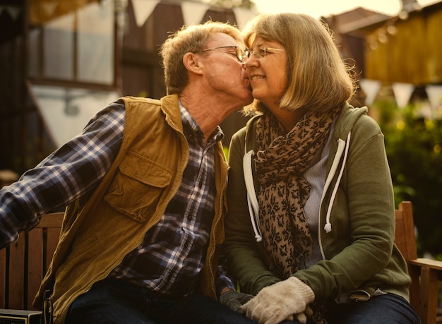
[[[326,320],[328,324],[421,323],[412,306],[405,299],[395,294],[373,296],[368,301],[349,304],[330,304]],[[282,323],[299,324],[297,321]],[[307,323],[311,324],[311,321]]]

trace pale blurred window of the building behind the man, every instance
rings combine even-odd
[[[114,1],[31,0],[30,78],[114,85]]]

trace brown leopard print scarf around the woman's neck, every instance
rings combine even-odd
[[[328,138],[338,111],[306,112],[289,133],[270,112],[256,125],[260,227],[268,265],[281,280],[296,272],[312,251],[304,215],[310,185],[303,174]]]

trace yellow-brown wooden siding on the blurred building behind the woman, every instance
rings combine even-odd
[[[368,35],[365,77],[387,83],[442,83],[442,3],[413,12],[395,27],[397,33],[374,48],[370,40],[377,38],[379,29]]]

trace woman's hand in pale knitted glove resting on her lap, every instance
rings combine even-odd
[[[306,323],[305,313],[311,311],[307,304],[314,299],[315,294],[309,286],[297,277],[289,277],[265,287],[241,309],[260,324],[277,324],[293,318]]]

